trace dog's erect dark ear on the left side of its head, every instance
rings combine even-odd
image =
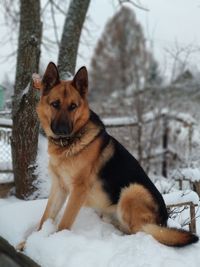
[[[43,94],[47,94],[54,86],[60,83],[58,69],[53,62],[50,62],[42,78]]]

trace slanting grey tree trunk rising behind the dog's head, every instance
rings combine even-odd
[[[90,0],[72,0],[63,28],[58,56],[58,69],[61,79],[74,74],[78,45]]]

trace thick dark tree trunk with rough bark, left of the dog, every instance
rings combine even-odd
[[[21,0],[12,112],[12,157],[16,196],[23,199],[34,191],[39,123],[35,112],[37,95],[31,86],[31,76],[38,72],[41,34],[40,0]]]

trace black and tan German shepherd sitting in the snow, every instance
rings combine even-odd
[[[48,138],[52,187],[39,229],[55,219],[68,196],[58,230],[70,229],[82,206],[94,208],[126,234],[143,231],[167,246],[198,241],[190,232],[167,227],[164,200],[137,160],[105,129],[87,101],[88,74],[82,67],[73,80],[59,78],[47,66],[37,114]]]

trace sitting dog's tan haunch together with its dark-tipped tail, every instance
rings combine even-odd
[[[119,228],[127,233],[143,231],[167,246],[184,246],[195,238],[190,232],[156,224],[157,204],[142,185],[123,189],[117,207]]]

